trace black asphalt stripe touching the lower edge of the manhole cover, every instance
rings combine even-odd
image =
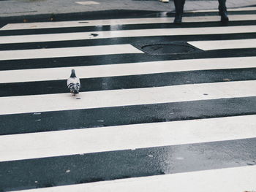
[[[196,58],[233,58],[256,56],[256,48],[209,50],[203,53],[189,53],[177,55],[149,55],[146,53],[92,55],[65,58],[37,58],[0,61],[0,70],[13,69],[42,69],[66,66],[94,66],[107,64],[127,64],[147,61],[169,61]]]

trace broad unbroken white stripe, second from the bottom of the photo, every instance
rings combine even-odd
[[[15,134],[0,136],[0,161],[253,137],[256,115]]]

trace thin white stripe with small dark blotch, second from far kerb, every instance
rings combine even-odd
[[[224,26],[224,27],[202,27],[202,28],[154,28],[135,29],[123,31],[94,31],[64,34],[34,34],[2,36],[0,43],[20,43],[20,42],[55,42],[78,39],[107,39],[117,37],[151,37],[151,36],[175,36],[192,34],[236,34],[255,33],[256,26]],[[94,37],[91,34],[98,34]]]

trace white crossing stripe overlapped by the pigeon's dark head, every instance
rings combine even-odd
[[[152,61],[131,64],[110,64],[100,66],[74,66],[48,69],[20,69],[0,71],[0,83],[33,82],[44,80],[67,80],[71,69],[80,78],[113,77],[135,74],[184,72],[211,69],[239,69],[256,67],[256,57],[203,58],[179,61]]]

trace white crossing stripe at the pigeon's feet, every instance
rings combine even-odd
[[[86,85],[81,85],[86,86]],[[256,80],[0,98],[0,115],[256,96]]]

